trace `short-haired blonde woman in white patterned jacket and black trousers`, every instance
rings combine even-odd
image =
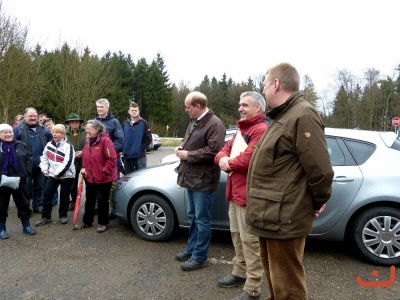
[[[52,222],[52,201],[58,186],[61,186],[58,215],[61,224],[68,223],[69,195],[75,178],[75,150],[65,137],[63,124],[54,125],[51,133],[53,140],[47,143],[40,157],[40,169],[47,179],[43,189],[42,219],[35,224],[36,226]]]

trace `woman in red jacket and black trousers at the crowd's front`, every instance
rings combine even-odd
[[[108,225],[108,199],[111,184],[117,179],[117,153],[104,125],[97,120],[86,124],[86,142],[83,148],[81,173],[85,176],[86,202],[83,222],[75,229],[92,227],[96,199],[98,201],[97,232],[104,232]]]

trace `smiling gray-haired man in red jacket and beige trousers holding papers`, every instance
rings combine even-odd
[[[266,103],[257,92],[240,95],[238,131],[215,156],[214,162],[229,173],[226,198],[229,200],[229,227],[235,248],[232,274],[218,280],[220,287],[242,286],[235,299],[259,299],[263,276],[258,237],[246,230],[247,170],[256,144],[268,127]]]

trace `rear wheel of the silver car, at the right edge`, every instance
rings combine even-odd
[[[400,263],[400,211],[390,207],[371,208],[354,221],[351,236],[356,249],[380,265]]]

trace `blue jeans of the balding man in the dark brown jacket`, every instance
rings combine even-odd
[[[211,206],[213,193],[204,193],[186,189],[188,195],[187,215],[189,236],[186,253],[192,258],[204,262],[208,258],[211,241]]]

